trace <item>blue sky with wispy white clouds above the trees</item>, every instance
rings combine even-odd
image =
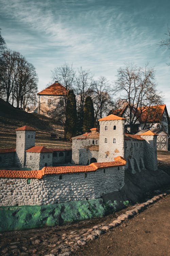
[[[169,0],[0,0],[0,28],[7,47],[35,66],[38,91],[65,62],[111,83],[125,63],[149,62],[170,113],[170,53],[159,47],[169,11]]]

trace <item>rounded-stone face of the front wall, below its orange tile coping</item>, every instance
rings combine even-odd
[[[30,182],[30,184],[28,184]],[[41,205],[100,198],[124,185],[124,167],[47,175],[42,179],[0,179],[0,206]]]

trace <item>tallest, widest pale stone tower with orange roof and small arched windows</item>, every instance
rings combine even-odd
[[[98,162],[114,161],[117,156],[124,157],[125,118],[111,114],[98,121],[100,124]]]

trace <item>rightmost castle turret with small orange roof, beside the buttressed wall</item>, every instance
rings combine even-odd
[[[149,170],[156,171],[158,169],[157,165],[157,140],[156,133],[152,131],[146,131],[140,134],[140,137],[145,140],[145,150],[144,150],[144,157],[145,157],[145,166]]]

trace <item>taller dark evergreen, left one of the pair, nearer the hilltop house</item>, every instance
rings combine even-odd
[[[76,135],[77,110],[73,90],[69,90],[66,105],[65,139],[71,140]]]

